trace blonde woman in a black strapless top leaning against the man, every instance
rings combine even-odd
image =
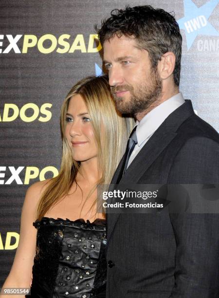
[[[132,120],[115,110],[107,76],[73,86],[61,110],[60,172],[27,191],[3,288],[32,283],[32,297],[105,297],[106,227],[96,186],[110,184],[131,129]]]

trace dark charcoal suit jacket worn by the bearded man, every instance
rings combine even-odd
[[[120,183],[219,184],[217,131],[186,100],[147,141]],[[107,231],[107,298],[219,297],[219,214],[109,213]]]

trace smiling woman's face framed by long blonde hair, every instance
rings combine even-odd
[[[97,157],[97,145],[90,115],[80,94],[73,95],[66,113],[65,137],[72,148],[75,161],[88,161]]]

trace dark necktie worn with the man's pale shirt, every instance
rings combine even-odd
[[[132,130],[132,132],[129,136],[127,147],[126,147],[126,152],[125,152],[125,157],[124,157],[124,162],[123,162],[122,168],[120,170],[120,173],[119,173],[119,176],[117,179],[117,184],[120,182],[125,171],[127,170],[129,157],[131,156],[131,153],[134,150],[135,145],[137,144],[136,127],[137,126],[134,127],[134,129]]]

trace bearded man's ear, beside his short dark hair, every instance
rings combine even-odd
[[[173,52],[167,52],[158,61],[158,74],[165,80],[172,75],[175,68],[176,56]]]

